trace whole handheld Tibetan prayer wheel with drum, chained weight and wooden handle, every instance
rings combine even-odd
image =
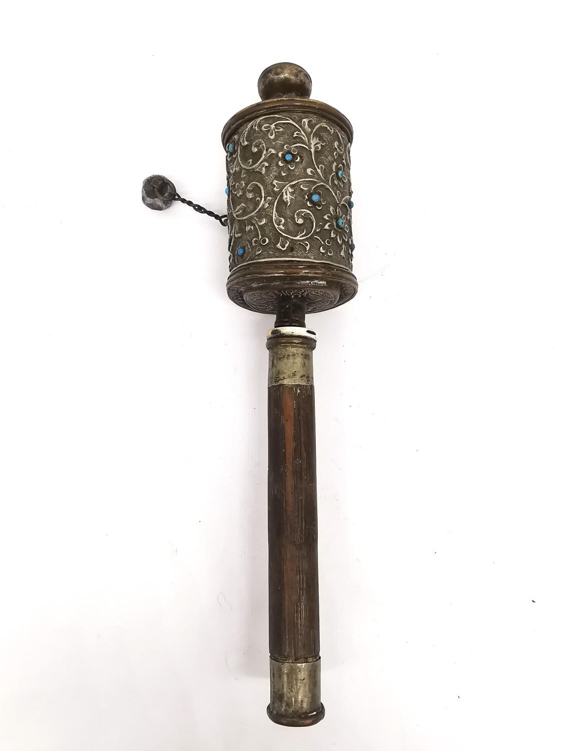
[[[151,208],[167,208],[176,198],[226,223],[227,294],[243,308],[275,315],[266,335],[267,713],[273,722],[293,726],[314,725],[324,717],[312,366],[317,336],[306,315],[342,305],[357,292],[352,126],[339,110],[309,98],[311,88],[309,74],[298,65],[272,65],[258,80],[262,101],[224,126],[226,222],[225,216],[180,198],[160,176],[143,185],[143,201]]]

